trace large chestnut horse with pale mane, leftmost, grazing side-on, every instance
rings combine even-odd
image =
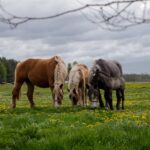
[[[34,107],[34,86],[50,87],[54,106],[59,106],[63,99],[63,85],[66,77],[67,68],[59,56],[50,59],[27,59],[18,63],[12,91],[12,108],[16,107],[16,99],[19,99],[20,89],[24,82],[27,84],[27,97],[31,107]]]

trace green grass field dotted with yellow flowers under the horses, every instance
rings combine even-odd
[[[12,110],[11,90],[0,85],[0,149],[150,150],[150,83],[127,83],[124,111],[71,107],[66,90],[55,109],[50,90],[40,88],[30,109],[26,86]]]

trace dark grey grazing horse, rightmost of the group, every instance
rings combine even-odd
[[[122,67],[118,62],[103,59],[95,61],[90,70],[88,91],[89,98],[93,102],[94,107],[96,107],[97,99],[100,106],[104,107],[99,89],[104,90],[106,106],[112,110],[112,90],[116,90],[116,108],[120,109],[120,101],[122,100],[122,109],[124,109],[125,80]]]

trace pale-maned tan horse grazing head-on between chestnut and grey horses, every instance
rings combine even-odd
[[[84,64],[77,64],[70,70],[68,91],[72,105],[87,105],[88,75],[88,68]]]

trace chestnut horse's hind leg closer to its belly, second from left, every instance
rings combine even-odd
[[[34,86],[30,82],[27,82],[27,87],[28,87],[27,97],[30,102],[30,107],[33,108],[35,105],[33,101]]]

